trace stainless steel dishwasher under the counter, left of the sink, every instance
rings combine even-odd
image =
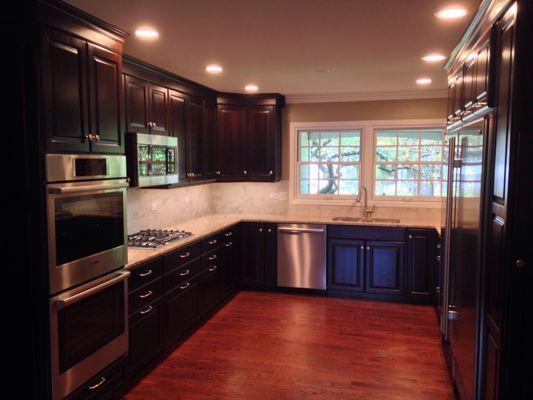
[[[278,225],[278,286],[326,290],[325,225]]]

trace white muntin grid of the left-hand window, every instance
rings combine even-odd
[[[337,146],[322,146],[321,145],[321,134],[322,133],[328,133],[328,134],[331,134],[331,133],[337,133],[338,135],[338,145]],[[353,133],[357,133],[358,136],[359,136],[359,145],[358,146],[349,146],[349,145],[345,145],[343,146],[342,145],[342,141],[341,141],[341,133],[345,133],[345,132],[353,132]],[[318,161],[302,161],[301,160],[301,149],[305,149],[305,148],[312,148],[314,146],[303,146],[301,144],[301,134],[302,133],[318,133],[319,134],[319,138],[318,138]],[[351,199],[351,198],[354,198],[354,196],[358,196],[359,195],[359,192],[360,192],[360,187],[361,187],[361,179],[362,179],[362,130],[360,128],[354,128],[354,129],[349,129],[349,128],[345,128],[345,129],[302,129],[302,130],[298,130],[297,131],[297,157],[296,157],[296,182],[297,182],[297,193],[298,193],[298,197],[299,198],[324,198],[324,199],[331,199],[331,198],[335,198],[335,199]],[[323,162],[321,160],[321,150],[323,147],[326,147],[326,148],[337,148],[337,153],[339,155],[339,161],[337,162]],[[341,151],[342,151],[342,148],[345,148],[345,147],[358,147],[358,151],[359,151],[359,154],[358,154],[358,159],[357,161],[341,161]],[[345,179],[345,178],[342,178],[342,177],[337,177],[333,180],[335,181],[338,181],[339,183],[339,191],[340,191],[340,183],[341,181],[356,181],[357,184],[356,184],[356,192],[353,193],[353,194],[340,194],[340,193],[336,193],[336,194],[332,194],[332,193],[314,193],[314,194],[305,194],[305,193],[301,193],[301,182],[302,181],[311,181],[311,180],[316,180],[318,183],[319,183],[319,186],[320,186],[320,182],[323,182],[323,181],[328,181],[328,179],[320,179],[319,177],[317,177],[316,179],[308,179],[308,178],[302,178],[300,176],[300,170],[301,170],[301,166],[303,165],[333,165],[334,167],[338,167],[340,168],[341,166],[356,166],[357,167],[357,171],[358,171],[358,176],[357,176],[357,179]]]

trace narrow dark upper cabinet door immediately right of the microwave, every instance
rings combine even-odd
[[[180,182],[187,179],[187,96],[169,90],[170,136],[178,138],[178,173]]]

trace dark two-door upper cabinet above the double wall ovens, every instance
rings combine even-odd
[[[41,27],[46,151],[124,152],[123,39],[117,38],[113,48],[107,48],[63,30]]]

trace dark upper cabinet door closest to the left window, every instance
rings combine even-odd
[[[251,107],[247,115],[247,160],[248,179],[273,181],[276,166],[278,138],[274,129],[274,107]]]

